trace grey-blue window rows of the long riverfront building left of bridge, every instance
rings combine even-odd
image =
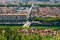
[[[1,16],[0,15],[0,20],[26,20],[26,16],[14,16],[14,15]]]

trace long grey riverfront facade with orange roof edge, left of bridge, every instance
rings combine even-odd
[[[1,14],[0,24],[24,24],[26,22],[26,14]]]

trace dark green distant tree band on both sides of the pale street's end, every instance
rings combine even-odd
[[[60,7],[60,4],[35,4],[36,6],[40,6],[40,7]],[[20,6],[20,7],[31,7],[31,4],[7,4],[7,5],[4,5],[4,4],[0,4],[0,7],[17,7],[17,6]]]

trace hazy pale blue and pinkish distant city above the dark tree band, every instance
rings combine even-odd
[[[0,0],[0,4],[18,4],[18,3],[31,3],[33,0]],[[43,3],[43,2],[57,2],[60,3],[60,0],[34,0],[36,3]]]

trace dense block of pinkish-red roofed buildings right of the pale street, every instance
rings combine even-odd
[[[57,7],[42,7],[31,10],[31,17],[60,17],[60,8]]]

